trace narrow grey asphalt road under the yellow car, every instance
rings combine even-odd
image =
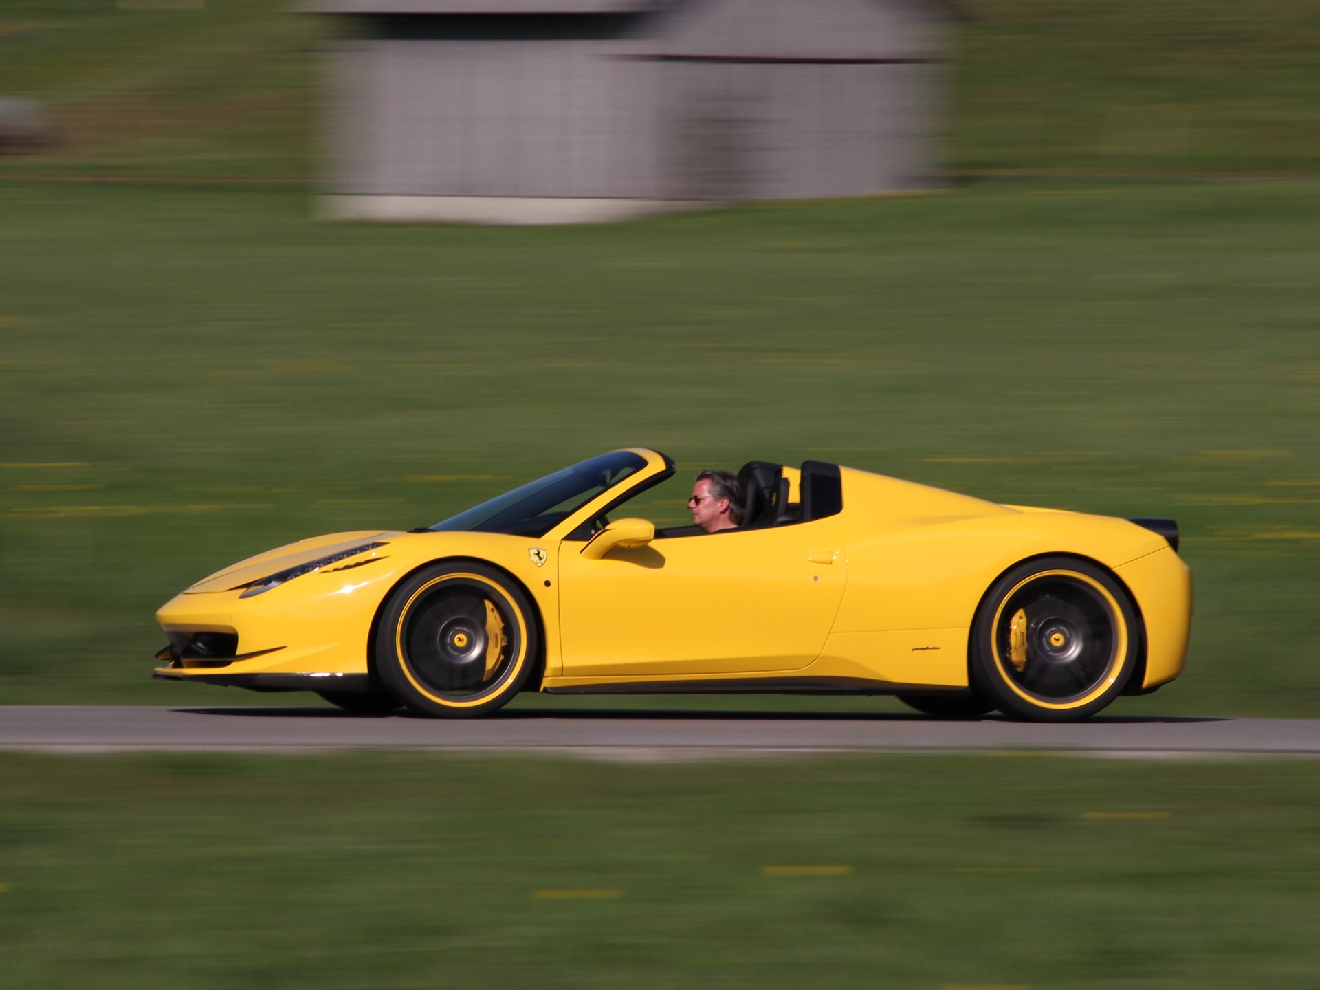
[[[834,750],[1320,755],[1320,721],[1093,718],[1028,725],[907,714],[506,710],[475,721],[329,708],[0,706],[0,748],[539,750],[616,759]]]

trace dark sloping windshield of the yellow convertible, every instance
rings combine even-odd
[[[436,523],[432,532],[545,536],[602,491],[645,466],[645,458],[627,450],[593,457]]]

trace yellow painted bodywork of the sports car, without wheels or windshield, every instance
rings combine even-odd
[[[643,467],[539,537],[362,529],[224,568],[173,598],[156,619],[168,634],[236,634],[236,656],[222,663],[172,653],[156,673],[216,682],[249,675],[366,677],[374,623],[392,590],[426,565],[473,560],[504,572],[532,601],[544,651],[536,686],[546,690],[966,688],[969,634],[987,589],[1010,568],[1045,554],[1094,561],[1131,591],[1144,626],[1142,686],[1183,669],[1191,574],[1151,529],[838,469],[842,510],[822,519],[661,533],[645,545],[583,553],[593,520],[618,513],[673,471],[653,450],[630,453]],[[784,467],[781,477],[789,503],[799,503],[803,471]],[[645,527],[634,528],[643,536],[632,541],[644,543]],[[381,545],[251,590],[275,572],[372,543]]]

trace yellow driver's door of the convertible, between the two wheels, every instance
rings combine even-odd
[[[795,671],[825,645],[843,595],[821,521],[652,540],[599,560],[560,552],[565,677]]]

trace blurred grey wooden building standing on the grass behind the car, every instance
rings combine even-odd
[[[306,9],[306,8],[305,8]],[[565,223],[932,185],[927,0],[314,0],[333,216]]]

